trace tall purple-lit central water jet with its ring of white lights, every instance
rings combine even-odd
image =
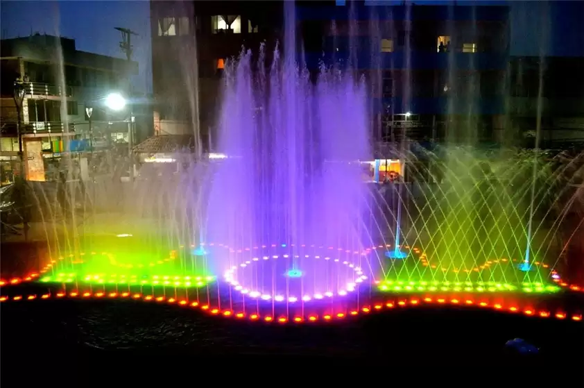
[[[352,71],[325,67],[311,81],[295,62],[292,35],[269,64],[262,46],[257,58],[243,51],[225,66],[218,152],[227,158],[214,171],[206,223],[207,241],[285,250],[270,260],[214,260],[242,292],[282,301],[343,295],[362,276],[353,253],[362,251],[367,206],[358,161],[370,158],[365,85]],[[350,252],[343,258],[302,248],[339,242]]]

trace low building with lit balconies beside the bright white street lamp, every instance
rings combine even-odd
[[[28,180],[46,180],[49,166],[61,155],[83,151],[91,144],[98,149],[112,141],[128,141],[127,117],[99,109],[99,101],[110,92],[127,90],[129,76],[137,74],[137,63],[79,51],[65,37],[35,34],[1,40],[0,159],[2,181],[12,180],[19,169],[20,133],[24,172]],[[15,81],[24,88],[22,102],[15,99]],[[103,104],[102,104],[103,105]],[[86,106],[92,112],[91,142]]]

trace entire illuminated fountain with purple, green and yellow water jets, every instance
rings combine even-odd
[[[71,229],[39,271],[2,281],[48,288],[3,290],[0,301],[135,298],[285,323],[424,303],[549,317],[556,307],[542,294],[581,290],[561,260],[573,232],[560,238],[578,199],[561,179],[579,167],[538,151],[456,146],[445,158],[426,151],[420,164],[398,144],[404,171],[430,178],[367,184],[366,83],[350,64],[323,65],[312,81],[291,8],[282,53],[268,63],[267,47],[257,58],[243,50],[225,66],[217,147],[226,158],[135,183],[118,220],[149,227]],[[47,236],[61,222],[46,221]],[[581,320],[572,305],[554,315]]]

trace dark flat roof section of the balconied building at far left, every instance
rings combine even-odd
[[[75,40],[68,37],[35,33],[27,37],[0,40],[0,58],[24,58],[30,62],[59,62],[78,67],[92,67],[138,74],[138,63],[77,50]]]

